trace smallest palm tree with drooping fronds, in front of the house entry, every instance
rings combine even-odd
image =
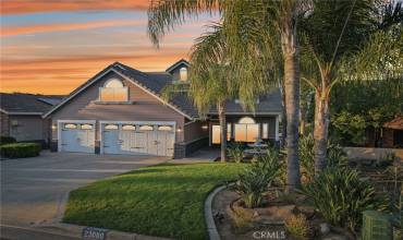
[[[208,32],[195,40],[191,49],[191,83],[190,85],[168,85],[163,89],[163,97],[171,98],[172,95],[186,88],[188,97],[202,118],[217,108],[220,122],[221,161],[227,161],[227,120],[225,101],[235,94],[236,81],[233,81],[229,62],[224,59],[225,41],[220,24],[208,26]]]

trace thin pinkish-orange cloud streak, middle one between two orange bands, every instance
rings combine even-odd
[[[111,26],[133,26],[145,24],[145,20],[129,21],[95,21],[87,23],[52,23],[52,24],[40,24],[32,26],[13,26],[3,27],[1,29],[1,36],[15,36],[20,34],[35,34],[35,33],[47,33],[47,32],[59,32],[59,31],[74,31],[74,29],[90,29],[99,27],[111,27]]]

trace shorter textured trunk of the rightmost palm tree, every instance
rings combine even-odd
[[[318,175],[326,167],[328,131],[329,131],[329,98],[322,97],[322,92],[315,94],[315,173]]]

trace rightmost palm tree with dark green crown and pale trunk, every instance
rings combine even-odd
[[[393,43],[381,52],[381,56],[376,56],[374,52],[371,55],[369,52],[371,48],[365,48],[373,39],[371,34],[376,32],[374,22],[378,15],[374,7],[373,1],[366,0],[317,0],[314,1],[312,13],[302,21],[302,79],[315,91],[316,173],[326,167],[330,121],[329,99],[332,86],[359,72],[357,69],[355,73],[351,72],[351,65],[356,67],[353,62],[362,61],[358,61],[358,56],[366,58],[365,63],[369,61],[379,64],[380,62],[376,60],[384,59],[390,50],[399,51],[399,48],[393,49],[398,47]],[[384,69],[390,63],[383,62],[379,67]],[[367,71],[365,74],[368,75],[369,72],[374,71]]]

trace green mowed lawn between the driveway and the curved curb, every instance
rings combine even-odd
[[[208,239],[204,201],[245,165],[159,165],[70,193],[63,221],[175,239]]]

